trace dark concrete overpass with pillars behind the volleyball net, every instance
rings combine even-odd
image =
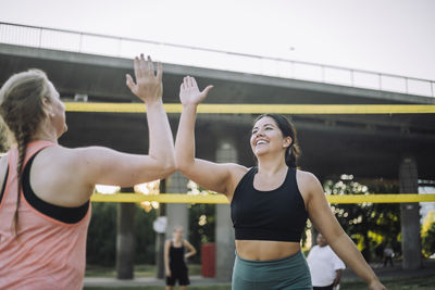
[[[45,71],[63,101],[74,101],[76,94],[87,94],[89,102],[137,101],[125,86],[125,74],[133,72],[133,62],[124,58],[0,43],[0,84],[11,74],[30,67]],[[179,102],[179,84],[185,75],[190,75],[201,88],[214,85],[206,103],[435,104],[433,93],[418,96],[171,63],[163,63],[163,70],[165,103]],[[174,135],[178,117],[170,114]],[[400,184],[400,192],[415,193],[418,179],[435,179],[435,114],[289,117],[298,129],[302,148],[300,166],[321,180],[352,174],[356,180],[365,184],[389,179]],[[197,156],[252,166],[249,133],[253,118],[250,114],[199,115]],[[148,133],[142,114],[69,112],[66,121],[69,133],[60,139],[63,146],[98,144],[125,152],[147,152]],[[186,192],[186,182],[176,173],[169,178],[166,192]],[[123,206],[120,205],[121,216],[127,218],[129,210]],[[228,206],[216,206],[217,278],[225,280],[231,275],[234,234]],[[408,268],[419,267],[421,263],[420,255],[414,254],[420,251],[418,207],[402,205],[403,254]],[[175,223],[188,228],[186,205],[167,205],[167,235]]]

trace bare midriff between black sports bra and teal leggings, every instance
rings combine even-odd
[[[300,251],[299,242],[236,240],[237,255],[251,261],[287,257]]]

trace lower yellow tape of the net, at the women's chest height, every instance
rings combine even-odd
[[[400,202],[435,202],[434,194],[344,194],[326,196],[330,203],[400,203]],[[94,202],[145,202],[157,201],[162,203],[228,203],[223,194],[185,194],[185,193],[95,193]]]

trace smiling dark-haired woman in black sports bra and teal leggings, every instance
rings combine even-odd
[[[371,290],[385,289],[339,226],[318,178],[297,169],[296,131],[284,116],[264,114],[254,121],[250,147],[258,165],[252,168],[195,159],[197,106],[211,88],[200,91],[195,78],[184,78],[175,159],[186,177],[231,202],[237,252],[233,289],[312,289],[300,250],[308,217]]]

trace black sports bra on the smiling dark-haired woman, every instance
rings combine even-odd
[[[252,167],[237,185],[231,203],[236,240],[300,242],[308,213],[296,181],[296,168],[288,168],[276,189],[253,188],[258,172]]]

